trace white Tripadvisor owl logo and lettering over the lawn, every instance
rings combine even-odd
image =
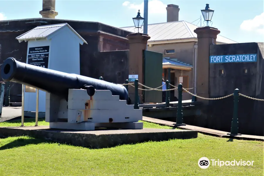
[[[220,161],[211,160],[212,166],[253,166],[254,161],[243,161],[243,160],[233,160],[233,161]],[[210,165],[210,160],[206,157],[202,157],[198,160],[198,166],[202,169],[208,168]]]

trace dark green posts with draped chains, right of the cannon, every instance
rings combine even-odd
[[[103,80],[103,77],[100,77],[101,80]],[[163,85],[166,84],[166,89],[158,89],[160,87],[162,87]],[[156,91],[166,91],[166,101],[165,101],[165,107],[170,107],[170,99],[169,99],[169,92],[170,90],[178,90],[178,107],[177,107],[177,118],[176,118],[176,124],[180,125],[183,124],[183,113],[182,113],[182,91],[184,90],[185,92],[191,94],[194,97],[200,98],[200,99],[205,99],[205,100],[219,100],[219,99],[225,99],[227,97],[234,97],[234,108],[233,108],[233,118],[232,118],[232,123],[231,123],[231,133],[229,133],[229,135],[240,135],[238,133],[238,99],[239,96],[242,97],[246,97],[248,99],[253,99],[253,100],[257,100],[257,101],[264,101],[264,99],[257,99],[257,98],[253,98],[253,97],[249,97],[246,95],[243,95],[239,92],[239,89],[235,89],[233,94],[229,94],[226,95],[224,97],[219,97],[219,98],[205,98],[205,97],[200,97],[196,94],[193,94],[191,92],[189,92],[189,89],[193,89],[193,88],[189,88],[189,89],[185,89],[182,84],[178,84],[178,87],[172,85],[169,83],[168,80],[166,80],[166,83],[163,84],[160,87],[157,88],[151,88],[151,87],[147,87],[143,84],[141,84],[138,79],[135,79],[135,81],[133,83],[128,83],[128,80],[125,81],[123,85],[124,87],[126,87],[126,89],[128,90],[128,86],[134,87],[135,88],[135,103],[134,103],[134,109],[139,109],[139,103],[138,103],[138,89],[143,90],[143,91],[150,91],[150,90],[156,90]],[[141,85],[147,89],[141,89],[138,87],[138,85]],[[173,89],[169,89],[169,85],[174,87]]]

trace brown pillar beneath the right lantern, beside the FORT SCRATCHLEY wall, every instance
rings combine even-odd
[[[209,55],[210,45],[216,44],[216,37],[220,33],[217,28],[209,26],[196,28],[198,49],[197,49],[197,95],[200,97],[209,98]],[[199,99],[204,103],[207,100]]]

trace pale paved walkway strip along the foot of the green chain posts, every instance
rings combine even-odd
[[[213,130],[209,128],[202,128],[199,126],[192,126],[192,125],[177,126],[175,122],[154,119],[154,118],[144,117],[144,116],[143,116],[143,121],[148,121],[148,122],[157,123],[161,125],[173,126],[173,127],[177,127],[181,129],[195,130],[195,131],[199,131],[200,133],[223,137],[223,138],[264,141],[264,136],[253,136],[253,135],[245,135],[245,134],[237,135],[237,136],[230,136],[230,135],[227,135],[229,132],[225,132],[225,131]]]

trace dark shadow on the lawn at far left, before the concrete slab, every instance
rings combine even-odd
[[[11,148],[17,148],[17,147],[23,147],[29,144],[40,144],[40,143],[53,143],[50,141],[42,140],[42,139],[16,139],[15,141],[12,141],[10,143],[7,143],[6,145],[3,145],[0,147],[0,150],[6,150]]]

